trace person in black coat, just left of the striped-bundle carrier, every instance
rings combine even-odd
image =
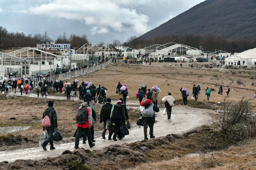
[[[118,100],[117,103],[114,105],[110,121],[115,123],[115,133],[113,135],[113,140],[117,141],[117,135],[119,136],[119,140],[121,140],[123,137],[120,128],[123,127],[123,124],[125,123],[125,112],[121,100]]]

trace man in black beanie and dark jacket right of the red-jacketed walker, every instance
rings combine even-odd
[[[102,131],[102,138],[106,139],[105,133],[107,131],[106,125],[107,120],[110,119],[111,109],[113,105],[111,104],[111,98],[107,98],[107,103],[104,104],[100,111],[100,123],[103,122],[103,131]],[[109,131],[108,140],[111,140],[112,133]]]

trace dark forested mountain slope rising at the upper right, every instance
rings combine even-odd
[[[230,40],[256,39],[255,0],[207,0],[138,37],[221,35]]]

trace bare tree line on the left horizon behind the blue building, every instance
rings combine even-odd
[[[49,44],[50,42],[54,42],[54,40],[49,37],[46,31],[43,34],[34,34],[32,36],[32,34],[26,35],[23,32],[8,32],[6,28],[0,26],[0,49],[35,47],[38,43]],[[58,36],[55,43],[71,44],[71,47],[76,49],[88,43],[88,38],[86,34],[82,36],[71,34],[68,37],[64,32]]]

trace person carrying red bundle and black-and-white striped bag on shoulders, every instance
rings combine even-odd
[[[147,138],[147,129],[149,126],[149,135],[150,139],[155,138],[154,136],[154,122],[155,122],[155,112],[159,112],[159,108],[156,104],[150,99],[143,100],[144,108],[141,109],[141,115],[143,120],[143,127],[144,127],[144,140],[148,140]],[[141,102],[141,105],[142,105]]]

